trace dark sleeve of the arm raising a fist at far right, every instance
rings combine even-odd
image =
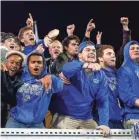
[[[124,51],[124,47],[125,47],[126,43],[128,43],[129,41],[131,41],[131,30],[129,30],[129,31],[123,30],[123,43],[122,43],[120,50],[117,52],[117,55],[116,55],[116,59],[117,59],[116,67],[117,68],[119,68],[124,61],[123,51]]]

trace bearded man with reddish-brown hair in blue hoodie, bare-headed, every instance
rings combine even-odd
[[[121,108],[119,106],[118,99],[118,83],[115,71],[116,57],[114,48],[110,45],[102,45],[97,50],[97,57],[108,80],[109,127],[112,129],[123,129]]]

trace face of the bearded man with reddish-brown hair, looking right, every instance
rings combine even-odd
[[[115,67],[116,57],[113,49],[103,50],[103,56],[99,58],[101,63],[106,67]]]

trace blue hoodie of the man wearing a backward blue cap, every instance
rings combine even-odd
[[[100,125],[108,125],[108,94],[107,84],[102,71],[92,72],[87,77],[82,68],[84,63],[74,61],[64,64],[63,74],[70,79],[70,85],[64,85],[64,89],[55,94],[55,112],[60,115],[71,116],[76,119],[92,119],[94,100],[100,115]]]

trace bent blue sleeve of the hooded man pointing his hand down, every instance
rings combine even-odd
[[[63,90],[63,81],[56,77],[55,75],[52,76],[52,93],[57,93]]]

